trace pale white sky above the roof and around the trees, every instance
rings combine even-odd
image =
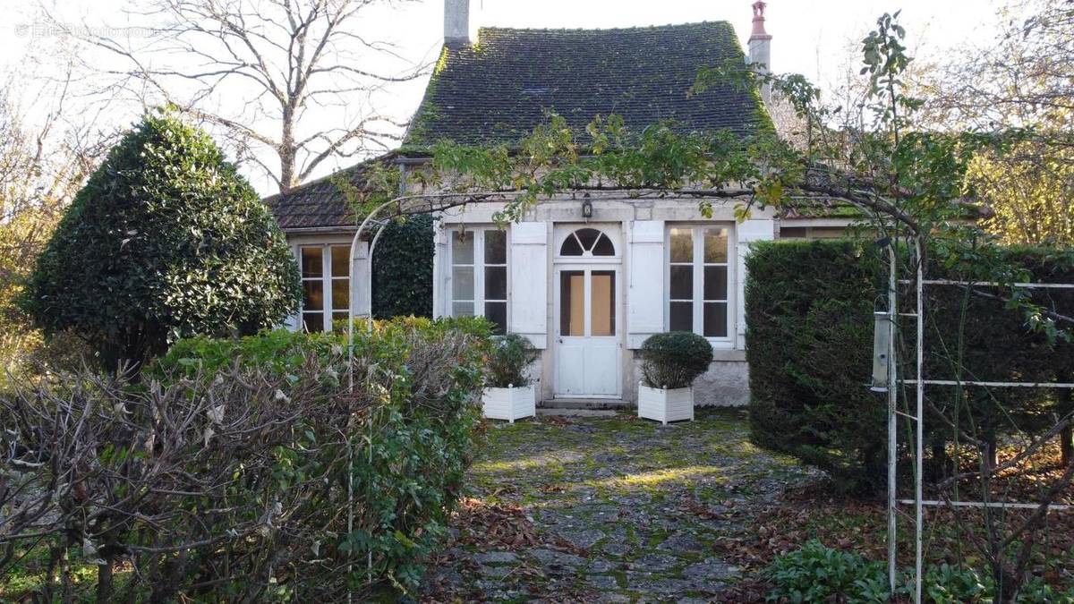
[[[750,0],[471,0],[470,25],[474,30],[481,26],[613,28],[727,20],[744,46],[751,30],[751,3]],[[130,23],[124,9],[136,9],[140,2],[43,0],[43,5],[66,23],[121,28]],[[27,0],[0,0],[0,11],[9,15],[5,24],[0,25],[0,70],[25,70],[27,56],[40,55],[46,45],[66,44],[58,34],[40,27],[33,6]],[[885,12],[902,11],[900,20],[908,30],[912,55],[937,58],[950,48],[990,38],[995,32],[996,6],[993,0],[771,0],[766,24],[772,35],[770,67],[775,72],[801,73],[822,88],[830,88],[854,67],[848,64],[853,59],[852,48],[856,51],[856,41]],[[368,13],[365,24],[380,40],[393,42],[406,62],[420,66],[431,63],[439,52],[442,15],[442,0],[418,0],[378,8]],[[106,63],[116,59],[100,57],[100,60]],[[426,80],[392,86],[376,102],[396,119],[406,120],[417,110]],[[133,109],[113,113],[120,123],[130,123],[137,115]],[[326,162],[315,175],[352,161]],[[262,192],[268,192],[267,181],[253,177],[253,182]]]

